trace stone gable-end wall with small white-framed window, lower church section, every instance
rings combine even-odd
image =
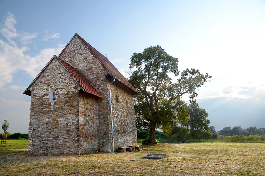
[[[75,81],[54,59],[32,85],[29,154],[79,152],[79,96]],[[55,89],[55,101],[49,90]]]

